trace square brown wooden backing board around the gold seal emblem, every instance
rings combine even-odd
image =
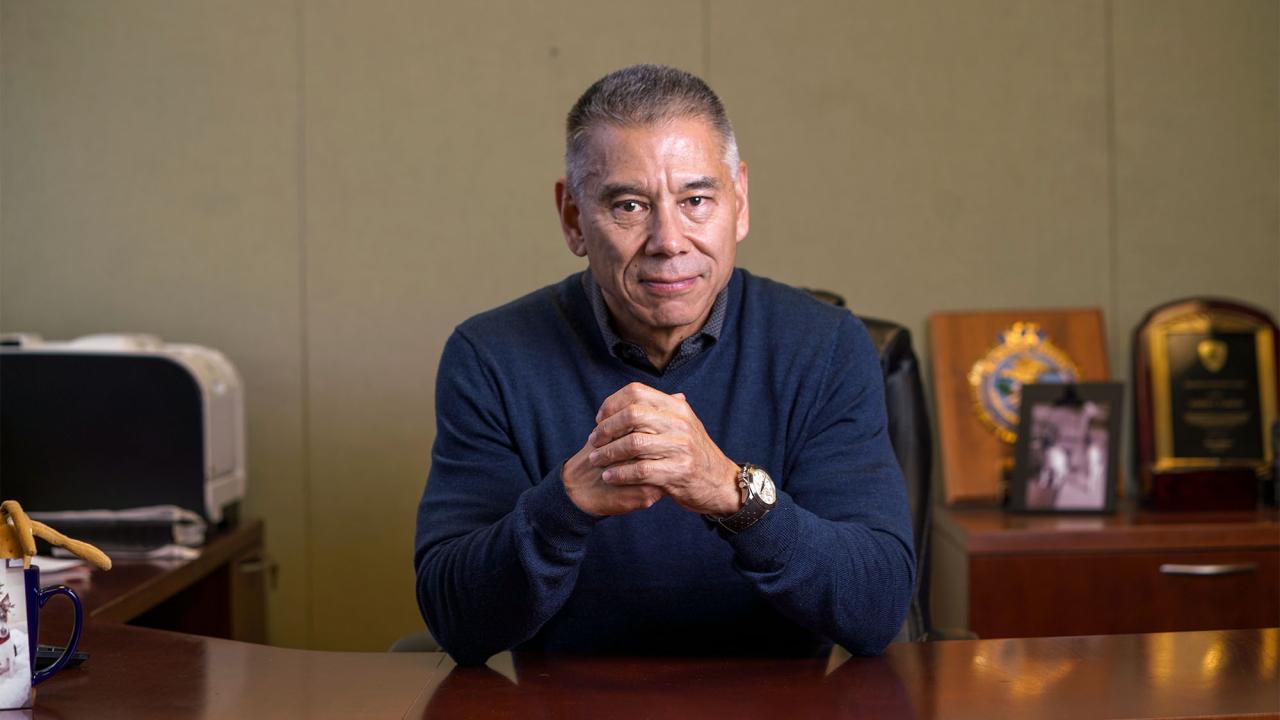
[[[947,505],[1002,500],[1004,474],[1012,461],[1014,446],[979,416],[969,374],[1015,323],[1034,323],[1052,346],[1070,357],[1076,380],[1111,379],[1102,311],[1097,307],[931,315],[929,355]]]

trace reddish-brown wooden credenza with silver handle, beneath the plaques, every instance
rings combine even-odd
[[[982,638],[1280,625],[1276,511],[938,509],[934,625]]]

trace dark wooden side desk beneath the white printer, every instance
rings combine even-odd
[[[119,561],[87,580],[69,579],[86,616],[246,642],[266,642],[262,521],[214,533],[195,560]],[[44,584],[61,580],[41,578]],[[41,614],[41,642],[61,644],[70,603],[54,600]]]

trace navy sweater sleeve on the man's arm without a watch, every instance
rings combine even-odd
[[[598,520],[568,498],[559,466],[529,477],[500,397],[476,348],[456,332],[436,377],[436,436],[413,562],[422,618],[462,665],[529,639],[564,605]]]

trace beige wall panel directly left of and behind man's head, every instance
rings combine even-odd
[[[422,626],[412,536],[444,341],[582,266],[552,202],[577,95],[635,61],[700,69],[696,6],[635,10],[307,5],[316,647],[381,650]]]

